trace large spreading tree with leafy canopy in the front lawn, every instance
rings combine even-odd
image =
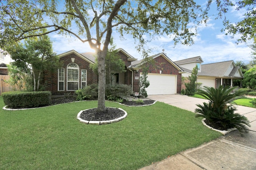
[[[208,6],[211,2],[208,0]],[[233,5],[230,0],[216,2],[220,15]],[[249,1],[239,2],[243,5]],[[172,34],[175,43],[190,44],[196,34],[192,27],[207,20],[208,9],[203,11],[193,0],[1,0],[1,48],[52,32],[74,35],[89,43],[98,57],[98,109],[106,111],[105,57],[113,29],[121,36],[131,34],[142,50],[148,42],[144,35],[153,39]],[[48,32],[42,33],[43,29]]]

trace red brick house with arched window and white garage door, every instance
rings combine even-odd
[[[118,55],[125,63],[126,72],[116,73],[114,80],[117,83],[127,84],[132,87],[133,92],[139,90],[139,78],[142,73],[138,61],[123,49],[118,49]],[[42,84],[45,90],[52,95],[73,94],[78,88],[98,83],[98,76],[90,68],[95,63],[94,53],[78,53],[75,50],[58,55],[62,68],[58,72],[44,72]],[[154,63],[147,64],[148,80],[150,86],[146,89],[148,94],[176,94],[181,91],[181,74],[183,70],[172,62],[164,53],[152,57]],[[113,79],[112,79],[113,80]]]

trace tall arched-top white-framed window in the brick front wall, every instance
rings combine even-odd
[[[67,90],[78,90],[79,84],[79,66],[76,63],[70,63],[67,66]]]

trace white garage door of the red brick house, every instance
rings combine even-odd
[[[146,88],[148,95],[176,94],[177,78],[175,75],[148,73],[150,85]]]

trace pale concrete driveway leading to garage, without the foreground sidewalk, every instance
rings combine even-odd
[[[203,102],[208,102],[208,100],[206,99],[193,98],[180,94],[148,95],[147,98],[151,100],[156,100],[158,102],[164,102],[166,104],[170,104],[172,106],[176,106],[192,112],[194,112],[195,109],[198,108],[196,104],[203,104]],[[256,132],[256,108],[237,105],[235,106],[237,109],[237,113],[245,115],[249,119],[252,126],[250,127],[250,130]]]

